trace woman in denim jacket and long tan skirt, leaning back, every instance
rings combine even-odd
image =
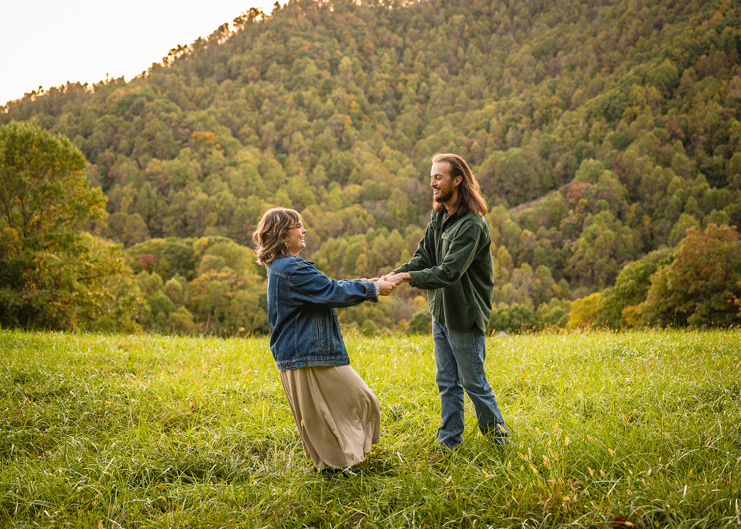
[[[377,302],[395,285],[329,279],[298,256],[305,235],[296,210],[275,207],[252,236],[257,262],[268,268],[270,350],[305,456],[317,470],[345,470],[379,442],[381,419],[378,399],[350,367],[335,307]]]

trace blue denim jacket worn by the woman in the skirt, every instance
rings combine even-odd
[[[378,285],[335,281],[312,262],[285,256],[268,264],[270,350],[279,370],[309,365],[348,365],[335,307],[378,301]]]

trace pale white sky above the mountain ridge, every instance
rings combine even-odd
[[[285,4],[285,0],[280,2]],[[0,7],[0,105],[24,93],[110,77],[130,81],[170,48],[275,0],[37,0]]]

